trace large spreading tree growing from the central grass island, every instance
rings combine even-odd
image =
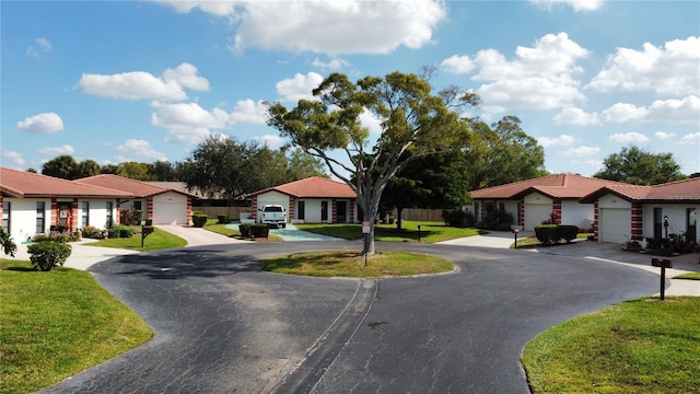
[[[322,159],[358,194],[363,218],[371,223],[363,253],[374,254],[373,223],[388,181],[412,160],[459,147],[467,124],[452,109],[455,103],[447,102],[448,95],[433,94],[416,74],[393,72],[352,83],[332,73],[313,94],[317,100],[300,100],[292,109],[269,104],[268,125]],[[468,96],[450,95],[455,102],[468,102]],[[366,115],[378,120],[378,136],[361,123]]]

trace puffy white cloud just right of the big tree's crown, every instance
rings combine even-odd
[[[480,50],[472,60],[478,73],[471,79],[487,81],[476,90],[487,112],[570,107],[585,101],[574,74],[583,71],[576,61],[588,55],[567,33],[547,34],[533,47],[517,47],[513,60],[494,49]]]

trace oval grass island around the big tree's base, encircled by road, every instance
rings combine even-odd
[[[314,277],[383,277],[446,273],[454,265],[443,258],[406,252],[377,252],[368,257],[358,252],[296,253],[262,262],[260,268],[278,274]]]

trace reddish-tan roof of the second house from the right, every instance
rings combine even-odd
[[[516,199],[537,192],[550,198],[579,199],[608,185],[625,185],[574,174],[555,174],[470,192],[474,199]]]

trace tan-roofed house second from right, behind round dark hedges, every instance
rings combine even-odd
[[[593,201],[582,204],[580,198],[608,185],[623,185],[574,174],[555,174],[534,179],[470,192],[474,206],[468,207],[477,222],[499,210],[513,216],[513,227],[534,230],[551,220],[556,213],[558,224],[590,229],[595,220]]]

